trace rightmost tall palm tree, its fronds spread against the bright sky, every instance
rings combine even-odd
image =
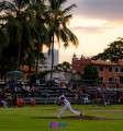
[[[78,39],[75,34],[67,27],[71,14],[68,14],[76,4],[71,4],[68,8],[62,10],[62,7],[67,0],[48,0],[49,2],[49,41],[51,41],[51,51],[52,51],[52,68],[51,68],[51,81],[53,79],[53,67],[54,67],[54,45],[55,38],[58,43],[64,43],[65,48],[69,46],[69,41],[74,46],[78,45]]]

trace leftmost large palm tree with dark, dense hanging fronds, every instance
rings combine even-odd
[[[12,0],[0,2],[0,11],[4,11],[4,26],[10,38],[9,52],[18,56],[16,69],[29,48],[34,48],[37,32],[33,24],[33,13],[27,12],[31,0]]]

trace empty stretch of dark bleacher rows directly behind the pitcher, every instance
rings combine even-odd
[[[67,88],[56,88],[56,87],[44,87],[37,86],[41,91],[41,94],[29,95],[29,94],[20,94],[20,97],[25,100],[26,104],[30,103],[31,98],[34,98],[36,104],[56,104],[58,99],[58,93],[62,91],[66,93],[66,97],[71,100],[74,98],[74,94],[68,94]]]

